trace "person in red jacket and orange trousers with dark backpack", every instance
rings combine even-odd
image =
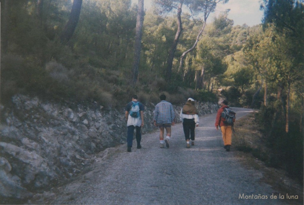
[[[233,123],[235,121],[236,113],[233,112],[231,108],[229,108],[228,101],[223,100],[220,105],[221,107],[217,110],[216,113],[215,127],[217,130],[220,127],[224,142],[224,149],[229,152],[231,146]]]

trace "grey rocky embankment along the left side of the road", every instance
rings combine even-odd
[[[181,105],[174,107],[179,116]],[[197,108],[203,115],[218,105],[197,103]],[[145,109],[143,133],[155,130],[154,104]],[[85,172],[92,155],[126,142],[126,129],[124,108],[14,96],[10,107],[1,105],[0,203],[23,203]]]

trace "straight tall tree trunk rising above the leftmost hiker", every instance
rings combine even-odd
[[[141,50],[141,36],[143,27],[143,0],[138,0],[137,18],[136,18],[136,32],[135,32],[135,43],[134,43],[134,58],[132,66],[132,77],[131,83],[136,84],[138,77],[138,67],[140,61],[140,50]]]

